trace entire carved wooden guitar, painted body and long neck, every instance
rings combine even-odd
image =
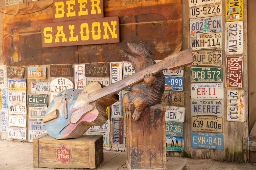
[[[46,110],[43,120],[46,130],[56,139],[78,138],[91,126],[101,126],[108,120],[106,108],[119,100],[117,92],[140,82],[147,74],[177,70],[191,63],[192,53],[183,50],[108,86],[91,82],[81,90],[66,89]]]

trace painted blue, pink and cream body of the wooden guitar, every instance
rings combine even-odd
[[[91,126],[108,120],[106,108],[119,100],[118,94],[107,95],[93,102],[88,94],[104,87],[91,82],[81,90],[66,89],[59,93],[46,110],[44,123],[47,132],[56,139],[78,138]]]

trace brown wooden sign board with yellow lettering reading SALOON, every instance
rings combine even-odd
[[[42,24],[42,47],[119,43],[118,17]]]

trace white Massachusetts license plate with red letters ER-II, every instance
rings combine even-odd
[[[223,99],[223,83],[192,83],[191,99]]]

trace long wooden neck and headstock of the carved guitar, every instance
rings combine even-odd
[[[192,53],[189,50],[180,51],[179,53],[166,57],[161,62],[153,64],[152,66],[149,66],[143,70],[140,70],[135,74],[132,74],[126,77],[125,79],[122,79],[106,87],[93,91],[88,95],[88,102],[91,103],[102,97],[118,93],[119,91],[143,80],[143,77],[146,74],[149,74],[149,73],[156,74],[163,70],[176,69],[191,63],[193,63]]]

